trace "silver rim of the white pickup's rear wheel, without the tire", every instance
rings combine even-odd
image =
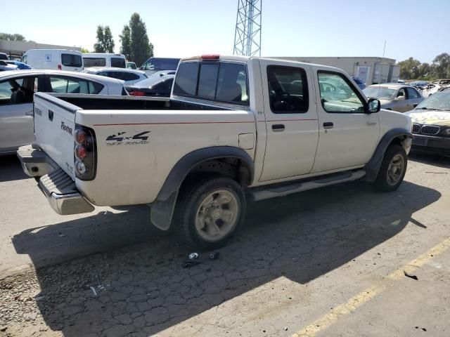
[[[239,216],[237,197],[229,190],[207,194],[195,215],[195,229],[207,241],[217,241],[229,234]]]

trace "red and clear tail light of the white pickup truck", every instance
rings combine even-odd
[[[75,176],[93,180],[96,176],[97,145],[94,130],[75,124],[74,161]]]

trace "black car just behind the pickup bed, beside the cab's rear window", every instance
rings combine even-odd
[[[125,86],[132,96],[170,97],[175,75],[150,76],[132,86]]]

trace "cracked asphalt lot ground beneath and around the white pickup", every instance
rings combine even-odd
[[[390,194],[356,182],[250,204],[219,259],[190,268],[146,206],[58,216],[3,159],[0,336],[450,334],[449,159],[413,154]]]

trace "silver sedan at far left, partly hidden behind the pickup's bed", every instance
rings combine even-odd
[[[34,141],[33,95],[89,93],[127,95],[123,81],[63,70],[17,70],[0,73],[0,154]]]

